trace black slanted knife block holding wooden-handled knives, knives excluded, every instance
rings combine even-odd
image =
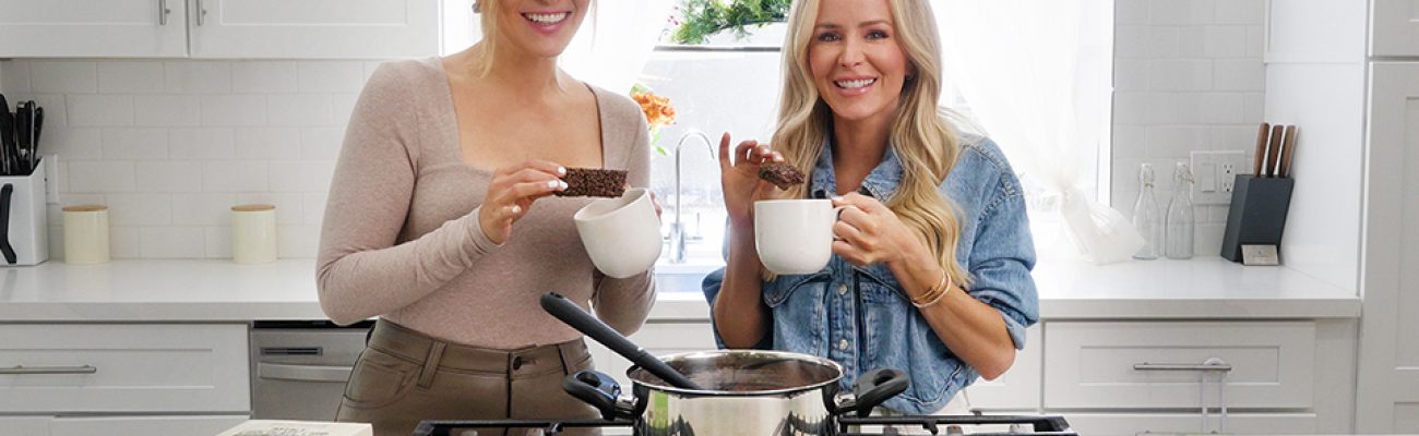
[[[1243,245],[1274,245],[1280,251],[1294,187],[1296,178],[1237,174],[1222,234],[1222,256],[1242,262]]]

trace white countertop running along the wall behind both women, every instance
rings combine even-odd
[[[651,321],[705,320],[694,269],[661,269]],[[701,269],[702,270],[702,269]],[[1351,289],[1220,258],[1108,266],[1040,263],[1040,314],[1064,319],[1354,319]],[[0,270],[0,321],[253,321],[325,319],[315,260],[47,262]]]

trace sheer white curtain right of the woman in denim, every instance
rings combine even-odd
[[[1131,258],[1142,236],[1087,194],[1095,180],[1087,168],[1110,129],[1112,1],[939,0],[934,7],[948,79],[1015,170],[1044,188],[1047,201],[1039,204],[1059,214],[1032,221],[1066,229],[1037,228],[1042,256]],[[1067,234],[1069,242],[1051,234]]]

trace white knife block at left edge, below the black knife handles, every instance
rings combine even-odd
[[[44,164],[35,164],[30,176],[0,177],[0,193],[10,187],[9,215],[0,217],[7,224],[4,241],[14,251],[14,262],[7,253],[0,255],[0,266],[38,265],[50,259],[48,205],[44,198]],[[3,197],[3,194],[0,194]],[[3,200],[3,198],[0,198]]]

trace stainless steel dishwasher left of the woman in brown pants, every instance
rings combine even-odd
[[[373,321],[255,321],[251,418],[333,420]]]

